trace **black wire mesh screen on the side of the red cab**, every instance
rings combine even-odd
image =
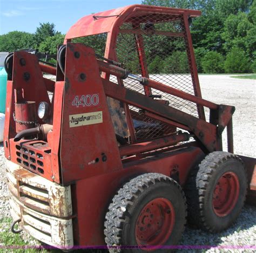
[[[181,15],[150,14],[130,18],[120,27],[116,45],[117,60],[133,74],[194,94],[184,31]],[[131,90],[145,92],[137,81],[125,79],[123,83]],[[190,101],[153,88],[151,94],[161,95],[160,99],[169,102],[170,106],[198,117],[197,106]],[[174,130],[161,121],[142,118],[142,114],[138,117],[138,108],[129,107],[137,139],[156,138]],[[144,125],[137,128],[141,121]]]

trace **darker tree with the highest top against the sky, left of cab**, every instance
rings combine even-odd
[[[35,39],[36,45],[39,45],[48,37],[55,36],[57,33],[55,30],[55,24],[53,23],[39,23],[39,27],[36,29]]]

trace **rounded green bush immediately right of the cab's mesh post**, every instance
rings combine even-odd
[[[201,59],[201,66],[204,73],[223,73],[224,57],[218,52],[207,52]]]

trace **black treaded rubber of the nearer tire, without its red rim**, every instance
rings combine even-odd
[[[170,230],[170,237],[164,244],[176,245],[186,223],[186,199],[183,190],[176,181],[158,173],[139,175],[118,190],[106,214],[104,224],[106,244],[108,246],[142,245],[138,243],[136,234],[139,217],[145,211],[147,204],[159,199],[170,202],[174,208],[175,222],[172,230]],[[120,249],[111,249],[111,247],[109,250],[110,252],[121,251]],[[145,252],[139,249],[125,250],[125,252],[140,251]],[[163,251],[161,250],[161,252]],[[166,252],[170,252],[170,250],[166,250]]]

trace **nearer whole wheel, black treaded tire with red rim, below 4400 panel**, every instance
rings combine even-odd
[[[157,201],[160,201],[160,204],[158,204]],[[153,203],[157,203],[156,206],[153,206]],[[166,203],[167,206],[171,203],[170,206],[173,207],[173,209],[162,208],[161,204],[165,207]],[[156,214],[154,211],[157,211],[157,214],[158,211],[160,213],[163,212],[161,213],[163,215],[152,215]],[[163,221],[161,217],[164,217]],[[171,220],[172,218],[174,218],[174,222]],[[158,221],[157,219],[160,219],[160,222],[154,223],[154,221]],[[152,227],[149,223],[152,224]],[[167,236],[167,239],[164,238],[164,244],[161,245],[176,245],[181,238],[185,223],[186,199],[179,184],[165,175],[147,173],[137,176],[125,183],[113,197],[104,224],[105,241],[108,246],[144,246],[147,243],[141,243],[142,241],[140,241],[145,239],[143,238],[143,233],[150,233],[149,238],[147,237],[149,240],[145,240],[146,242],[152,242],[152,238],[156,237],[157,240],[161,234],[161,230],[166,229],[166,231],[170,232],[170,234],[167,235],[170,236]],[[159,226],[161,226],[161,228]],[[159,234],[155,234],[155,228],[159,231]],[[140,234],[140,231],[142,231],[142,234]],[[151,231],[153,231],[153,236],[151,235]],[[163,235],[166,234],[164,233]],[[142,236],[143,239],[140,239],[140,236]],[[109,250],[110,252],[122,251],[121,249],[111,249],[111,247],[109,247]],[[126,249],[125,252],[145,251],[137,248]],[[151,252],[157,252],[157,249]],[[161,250],[161,252],[163,252],[163,250]],[[170,249],[166,250],[166,252],[170,252]]]

